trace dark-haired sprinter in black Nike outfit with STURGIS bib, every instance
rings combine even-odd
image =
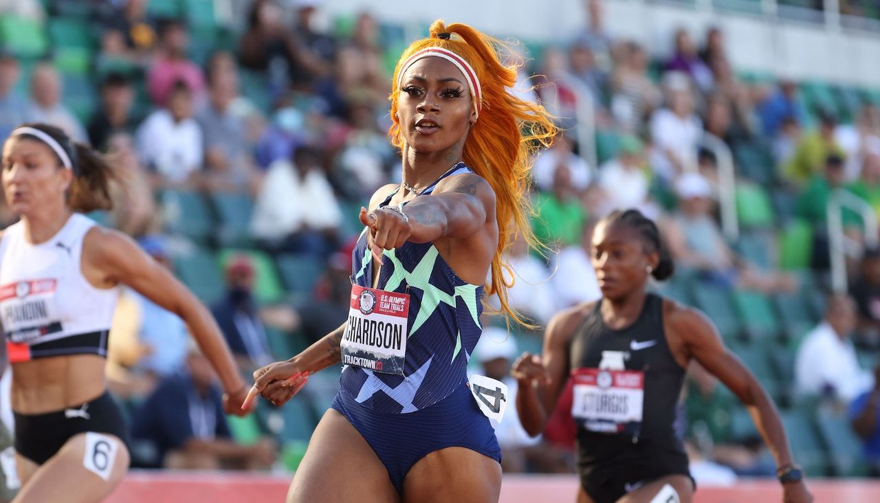
[[[634,209],[606,216],[593,235],[592,260],[602,299],[553,317],[543,359],[523,354],[512,371],[517,412],[532,435],[544,429],[571,375],[578,502],[693,499],[687,456],[673,428],[691,360],[752,412],[779,467],[786,503],[810,501],[779,414],[748,368],[699,311],[645,291],[649,275],[664,280],[673,269],[654,222]]]

